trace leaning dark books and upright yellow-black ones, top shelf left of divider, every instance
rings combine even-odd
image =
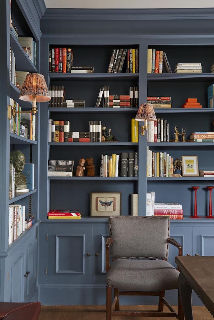
[[[126,56],[126,73],[138,73],[138,49],[113,49],[107,72],[121,73]]]

